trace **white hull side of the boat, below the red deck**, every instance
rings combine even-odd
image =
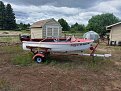
[[[92,41],[93,42],[93,41]],[[23,41],[23,49],[30,50],[29,47],[36,48],[49,48],[50,51],[53,52],[67,52],[67,51],[79,51],[86,50],[90,48],[92,42],[70,42],[70,43],[51,43],[51,42],[31,42],[31,41]]]

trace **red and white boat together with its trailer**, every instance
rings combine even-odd
[[[68,38],[44,38],[44,39],[31,39],[22,41],[22,47],[24,50],[30,50],[34,53],[33,60],[37,63],[44,62],[47,55],[56,52],[68,52],[71,51],[83,51],[90,49],[90,54],[78,54],[84,56],[99,56],[99,57],[110,57],[111,54],[94,54],[97,46],[92,46],[94,40],[75,38],[74,36]],[[77,54],[77,53],[76,53]]]

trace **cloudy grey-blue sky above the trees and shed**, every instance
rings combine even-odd
[[[121,0],[2,0],[11,4],[17,23],[64,18],[69,25],[88,24],[92,16],[113,13],[121,19]]]

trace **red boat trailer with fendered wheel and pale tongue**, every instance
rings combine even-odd
[[[111,57],[111,54],[95,54],[95,51],[96,51],[96,48],[97,46],[99,45],[99,43],[96,44],[96,46],[94,47],[90,47],[90,50],[91,50],[91,53],[89,54],[86,54],[86,53],[74,53],[74,54],[71,54],[71,53],[67,53],[68,55],[80,55],[80,56],[92,56],[92,57]],[[51,52],[50,48],[38,48],[38,47],[31,47],[31,46],[27,46],[27,48],[31,49],[31,52],[34,54],[33,56],[33,60],[37,63],[41,63],[41,62],[44,62],[46,60],[46,58],[48,57],[48,55],[50,55]],[[56,54],[56,53],[54,53]]]

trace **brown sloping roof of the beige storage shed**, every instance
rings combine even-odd
[[[33,23],[31,25],[31,28],[41,28],[43,27],[47,22],[49,22],[50,20],[55,20],[54,18],[51,18],[51,19],[46,19],[46,20],[40,20],[40,21],[37,21],[35,23]]]

